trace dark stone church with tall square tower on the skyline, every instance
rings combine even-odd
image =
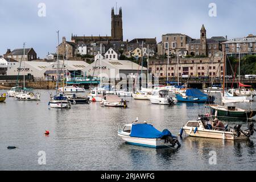
[[[111,36],[77,36],[71,35],[71,41],[78,44],[84,42],[108,42],[108,41],[123,41],[123,22],[122,8],[119,8],[119,14],[114,14],[114,7],[111,10]]]

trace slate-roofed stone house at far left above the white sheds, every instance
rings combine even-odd
[[[32,61],[37,59],[36,52],[33,48],[25,48],[25,50],[23,48],[19,48],[14,49],[13,51],[7,49],[7,52],[5,53],[4,57],[8,57],[16,61],[23,61],[23,57],[25,61]]]

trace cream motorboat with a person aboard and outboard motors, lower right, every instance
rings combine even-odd
[[[253,131],[255,131],[253,123],[249,125],[249,129],[243,131],[241,130],[240,124],[233,128],[230,127],[229,129],[228,125],[226,125],[225,128],[214,129],[209,122],[209,118],[205,116],[200,116],[197,121],[188,121],[185,126],[181,128],[180,136],[182,136],[183,131],[185,131],[185,134],[191,137],[238,140],[249,138],[253,134]]]

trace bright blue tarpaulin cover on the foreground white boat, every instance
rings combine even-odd
[[[163,130],[163,132],[155,129],[150,124],[135,124],[131,127],[130,137],[138,138],[162,138],[163,136],[172,136],[169,130]]]

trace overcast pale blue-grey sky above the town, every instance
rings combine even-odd
[[[256,34],[254,0],[1,0],[0,54],[33,47],[40,58],[56,52],[60,40],[77,36],[111,35],[111,8],[122,7],[123,39],[157,38],[182,33],[200,37],[204,23],[207,37],[243,37]],[[46,16],[38,16],[39,3],[46,5]],[[210,17],[210,3],[217,5],[217,16]]]

